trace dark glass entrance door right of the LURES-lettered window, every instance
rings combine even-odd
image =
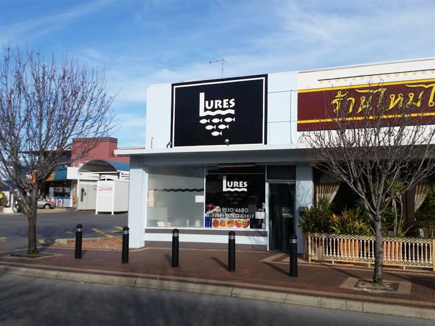
[[[295,232],[295,184],[269,183],[269,249],[288,251]]]

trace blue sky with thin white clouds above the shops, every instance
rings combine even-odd
[[[435,56],[435,0],[0,0],[0,43],[104,67],[120,146],[144,144],[150,84]]]

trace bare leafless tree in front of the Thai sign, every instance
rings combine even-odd
[[[407,94],[394,93],[381,83],[335,91],[325,96],[326,118],[303,134],[317,167],[347,184],[364,204],[376,236],[377,283],[383,277],[385,210],[435,171],[435,128],[427,110],[435,85],[408,88]]]

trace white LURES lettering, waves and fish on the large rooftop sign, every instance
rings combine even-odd
[[[234,114],[236,113],[234,107],[236,106],[235,99],[216,99],[216,100],[205,100],[205,93],[199,93],[199,123],[205,125],[205,129],[209,130],[212,136],[223,136],[222,131],[215,131],[216,125],[221,130],[230,129],[230,123],[235,122],[236,118]],[[216,116],[221,115],[223,117],[215,117],[213,119],[205,119],[206,116]],[[233,115],[233,117],[228,117],[227,115]],[[227,116],[227,117],[225,117]],[[211,123],[214,125],[209,124]],[[227,123],[227,124],[224,124]]]

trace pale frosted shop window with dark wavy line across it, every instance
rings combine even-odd
[[[147,227],[203,227],[204,168],[149,167]]]

